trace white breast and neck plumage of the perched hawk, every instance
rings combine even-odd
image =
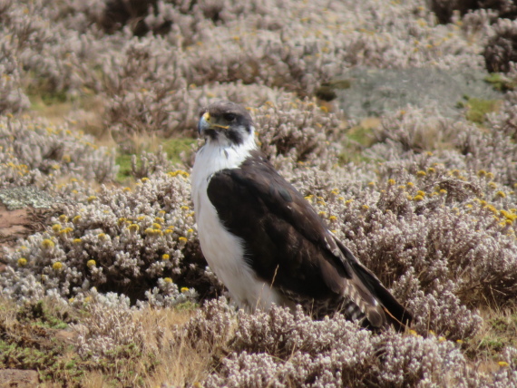
[[[268,309],[272,303],[280,305],[281,297],[259,280],[245,262],[242,239],[229,233],[221,224],[217,210],[208,198],[207,188],[213,173],[239,168],[249,157],[249,151],[255,148],[252,137],[239,147],[207,142],[198,151],[191,174],[192,199],[203,255],[239,306],[249,310]]]

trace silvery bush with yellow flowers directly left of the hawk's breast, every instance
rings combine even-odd
[[[171,306],[194,299],[194,291],[180,292],[174,284],[189,272],[199,281],[204,272],[204,264],[193,260],[199,247],[187,176],[181,170],[161,172],[141,179],[133,190],[102,187],[90,197],[72,194],[77,203],[64,205],[54,225],[7,254],[3,294],[30,299],[54,291],[82,298],[95,286],[132,296],[133,303],[147,299]],[[31,285],[34,290],[24,293]]]

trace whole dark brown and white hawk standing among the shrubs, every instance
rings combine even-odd
[[[229,101],[200,112],[205,144],[191,174],[200,246],[239,306],[341,312],[372,329],[411,320],[255,143],[249,112]]]

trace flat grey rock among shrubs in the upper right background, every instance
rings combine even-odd
[[[322,85],[325,96],[336,94],[337,108],[349,118],[378,117],[404,109],[407,104],[435,109],[452,119],[463,116],[458,102],[464,96],[483,100],[502,99],[484,81],[488,73],[460,73],[436,68],[355,68]],[[346,85],[347,87],[342,87]]]

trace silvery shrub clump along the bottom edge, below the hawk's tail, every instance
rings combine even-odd
[[[481,387],[517,382],[512,367],[483,373],[463,355],[461,344],[434,333],[373,335],[342,315],[313,321],[301,309],[293,315],[278,307],[254,315],[239,312],[234,329],[231,318],[225,303],[212,301],[185,325],[183,335],[210,337],[210,344],[230,351],[204,386]],[[508,348],[505,360],[514,363],[515,352]]]

